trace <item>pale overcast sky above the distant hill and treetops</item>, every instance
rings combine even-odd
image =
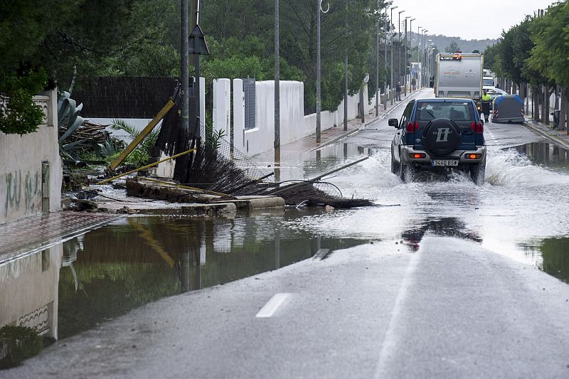
[[[553,0],[393,0],[393,24],[397,28],[398,11],[401,18],[411,16],[413,31],[427,28],[427,34],[444,34],[467,40],[499,38],[502,29],[508,30],[523,20],[526,14],[545,9]],[[388,14],[390,10],[388,9]]]

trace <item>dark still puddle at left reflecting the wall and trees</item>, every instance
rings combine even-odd
[[[25,324],[65,338],[162,297],[291,265],[319,247],[363,243],[287,226],[302,215],[115,220],[0,264],[0,325]]]

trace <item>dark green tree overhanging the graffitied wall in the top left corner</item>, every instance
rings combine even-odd
[[[163,34],[159,0],[4,1],[0,17],[0,131],[25,134],[41,122],[31,98],[48,76],[73,88],[108,70],[110,60],[129,60]]]

